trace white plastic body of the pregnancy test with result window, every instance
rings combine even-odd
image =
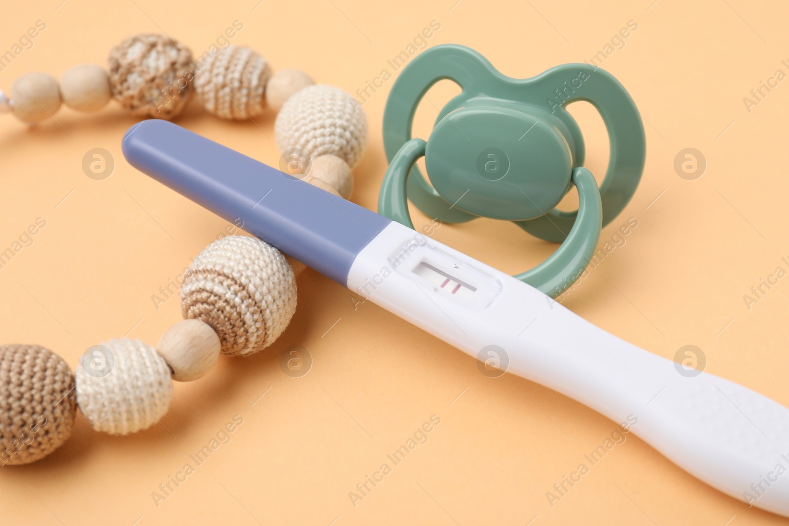
[[[397,222],[358,254],[348,288],[465,353],[499,360],[508,372],[616,423],[635,417],[631,431],[687,472],[789,516],[789,473],[783,474],[789,468],[789,409],[783,405],[705,372],[680,375],[673,361]]]

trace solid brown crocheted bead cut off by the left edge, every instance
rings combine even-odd
[[[76,412],[65,360],[40,345],[0,347],[0,464],[28,464],[58,449]]]

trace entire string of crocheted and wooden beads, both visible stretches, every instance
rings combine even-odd
[[[314,85],[297,69],[272,73],[247,47],[229,46],[199,62],[165,35],[134,35],[110,52],[107,70],[77,65],[60,82],[27,73],[0,91],[0,111],[36,124],[62,104],[95,111],[116,99],[140,117],[176,118],[195,99],[219,118],[243,120],[279,110],[275,140],[286,171],[348,198],[353,166],[367,144],[367,120],[340,88]],[[256,237],[214,241],[193,259],[181,284],[184,320],[157,345],[116,338],[94,345],[75,373],[39,345],[0,346],[0,466],[47,456],[69,435],[80,408],[97,431],[126,435],[167,412],[173,380],[211,370],[220,354],[249,356],[271,345],[297,304],[305,265]]]

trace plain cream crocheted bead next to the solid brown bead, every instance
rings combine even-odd
[[[162,356],[129,338],[113,339],[102,347],[106,367],[98,369],[100,375],[85,364],[95,347],[88,349],[75,373],[82,414],[96,431],[112,435],[128,435],[158,422],[173,397],[170,367]]]

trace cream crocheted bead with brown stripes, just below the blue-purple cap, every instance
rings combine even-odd
[[[256,237],[229,236],[197,255],[181,286],[181,315],[208,323],[222,354],[257,353],[296,311],[296,276],[285,256]]]

